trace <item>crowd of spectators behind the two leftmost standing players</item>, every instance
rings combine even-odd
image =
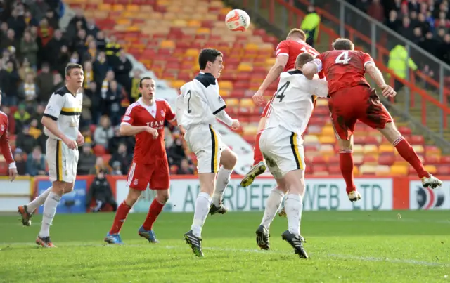
[[[79,129],[78,171],[127,174],[134,137],[119,135],[127,106],[139,98],[141,70],[133,70],[120,43],[77,11],[65,31],[60,27],[60,0],[0,0],[1,111],[9,119],[11,147],[20,175],[45,175],[41,117],[51,94],[65,84],[65,65],[84,67],[83,108]],[[132,76],[130,76],[130,73]],[[179,129],[165,128],[172,173],[193,173]]]

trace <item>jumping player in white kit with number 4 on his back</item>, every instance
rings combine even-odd
[[[259,140],[266,164],[276,179],[277,186],[266,201],[261,225],[256,231],[257,244],[269,249],[269,226],[274,220],[285,194],[285,211],[288,230],[282,238],[295,249],[300,258],[308,258],[300,235],[302,198],[304,196],[304,154],[302,133],[307,127],[316,97],[326,98],[328,86],[325,80],[308,80],[302,67],[314,58],[309,53],[297,56],[295,70],[280,75],[278,91],[272,101],[272,113]]]

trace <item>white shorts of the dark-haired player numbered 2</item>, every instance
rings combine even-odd
[[[217,173],[221,152],[225,149],[220,134],[211,125],[196,125],[186,130],[184,139],[197,157],[198,173]]]

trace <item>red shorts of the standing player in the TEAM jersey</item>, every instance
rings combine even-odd
[[[170,187],[169,165],[167,161],[156,164],[132,163],[128,171],[127,187],[134,190],[167,190]]]

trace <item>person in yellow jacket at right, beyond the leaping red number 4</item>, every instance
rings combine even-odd
[[[408,65],[406,65],[406,60],[408,60]],[[406,79],[406,74],[409,69],[416,71],[417,65],[411,59],[408,58],[408,51],[406,51],[405,46],[397,44],[389,53],[389,62],[387,62],[387,67],[400,77],[401,79]],[[394,82],[394,91],[399,91],[404,86],[401,81]]]

